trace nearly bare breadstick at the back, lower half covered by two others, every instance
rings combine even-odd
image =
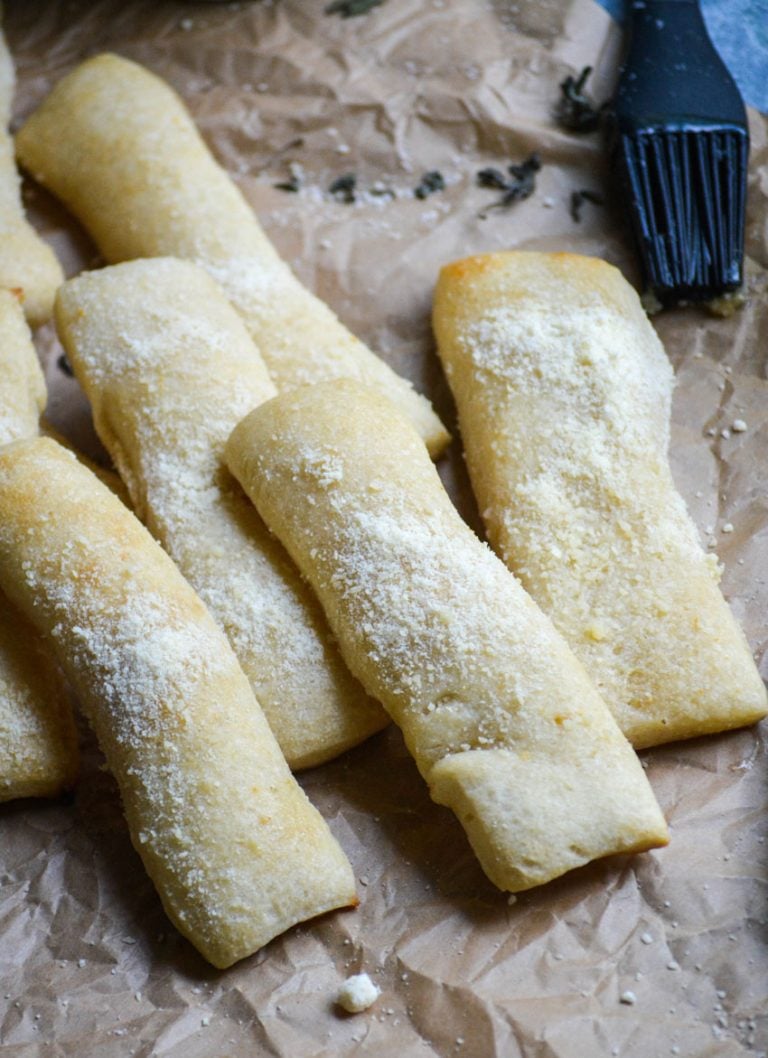
[[[116,55],[88,59],[29,120],[17,149],[107,260],[170,255],[202,264],[242,315],[278,389],[360,379],[414,420],[434,455],[445,448],[428,401],[301,286],[181,99],[148,70]]]

